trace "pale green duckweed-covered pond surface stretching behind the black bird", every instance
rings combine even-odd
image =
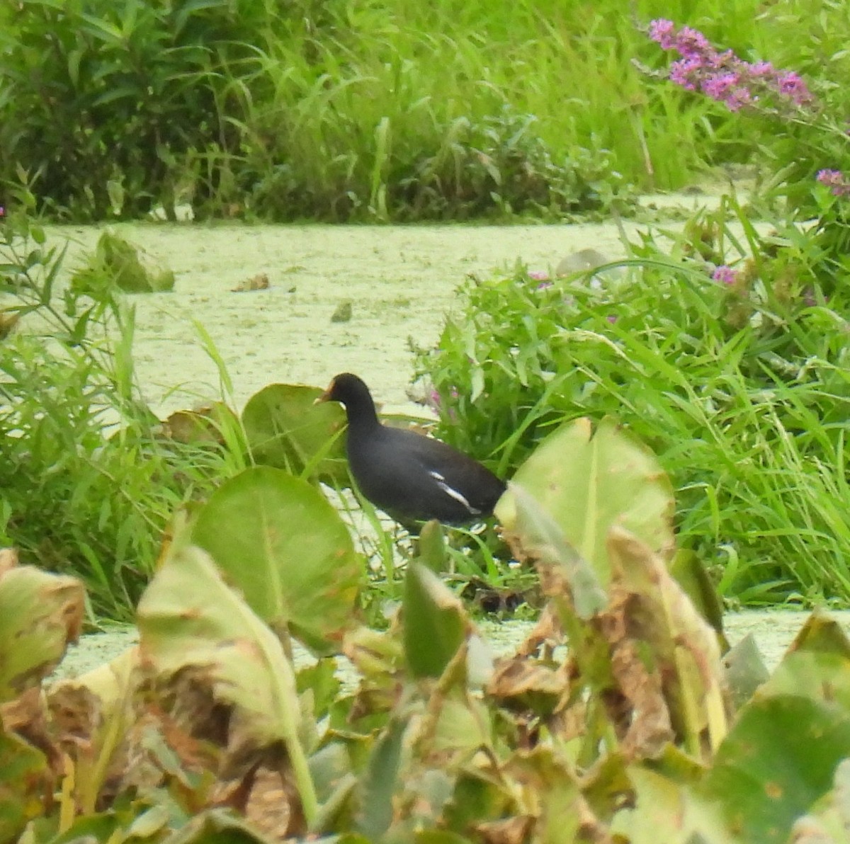
[[[714,195],[673,196],[693,209]],[[659,200],[660,201],[660,200]],[[615,222],[600,224],[330,226],[120,224],[116,231],[173,269],[172,292],[132,297],[135,360],[145,399],[162,416],[220,397],[216,366],[195,323],[212,337],[242,405],[268,383],[326,387],[353,371],[387,411],[411,411],[410,340],[433,345],[467,275],[486,278],[519,260],[548,270],[574,252],[622,258]],[[624,221],[632,240],[647,226]],[[70,241],[67,269],[94,249],[98,226],[54,226]],[[234,292],[256,275],[267,290]],[[341,303],[351,319],[332,322]]]

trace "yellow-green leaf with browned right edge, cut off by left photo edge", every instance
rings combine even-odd
[[[0,702],[54,670],[80,635],[84,597],[77,578],[19,566],[0,550]]]

